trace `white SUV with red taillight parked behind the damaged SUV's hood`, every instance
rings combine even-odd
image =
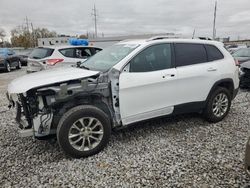
[[[75,65],[101,51],[92,46],[50,46],[35,48],[28,57],[27,72]]]

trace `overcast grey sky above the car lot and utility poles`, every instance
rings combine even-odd
[[[174,32],[212,36],[215,0],[0,0],[0,28],[9,35],[27,16],[34,27],[59,34],[94,32],[117,36]],[[218,0],[217,36],[250,38],[250,0]]]

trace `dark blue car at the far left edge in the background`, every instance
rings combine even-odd
[[[12,68],[22,68],[19,57],[8,48],[0,48],[0,69],[10,72]]]

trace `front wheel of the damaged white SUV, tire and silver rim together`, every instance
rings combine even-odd
[[[61,149],[74,158],[99,153],[108,144],[110,135],[108,116],[90,105],[70,109],[62,116],[57,127],[57,140]]]

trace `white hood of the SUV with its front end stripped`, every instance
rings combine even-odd
[[[38,88],[54,83],[87,78],[99,74],[98,71],[90,71],[76,67],[60,67],[41,72],[27,74],[13,80],[8,85],[8,93],[24,93],[32,88]]]

